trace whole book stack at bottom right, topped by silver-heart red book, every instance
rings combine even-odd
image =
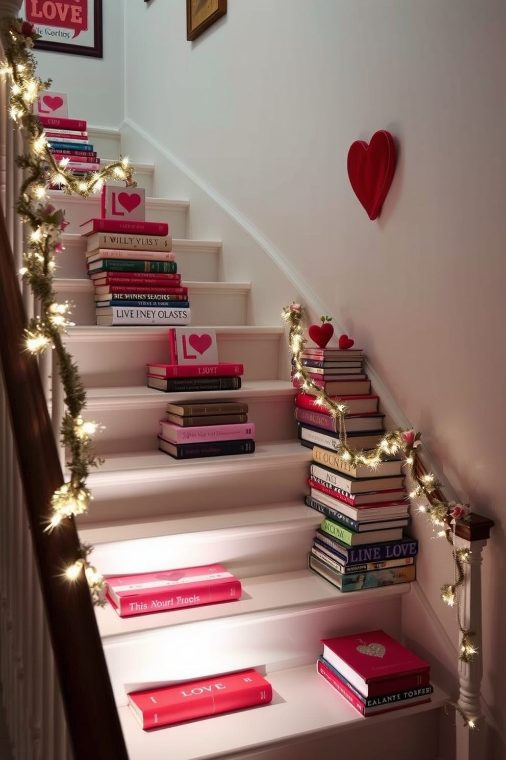
[[[430,666],[385,631],[322,639],[318,673],[363,716],[431,701]]]

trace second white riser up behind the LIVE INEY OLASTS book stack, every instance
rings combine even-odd
[[[82,235],[61,236],[64,252],[58,255],[55,277],[87,280],[86,239]],[[217,282],[222,257],[221,240],[172,239],[172,251],[183,280]]]

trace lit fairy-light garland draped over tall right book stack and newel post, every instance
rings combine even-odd
[[[283,320],[289,326],[288,348],[291,353],[293,364],[293,376],[297,380],[299,390],[310,393],[315,397],[315,403],[335,417],[338,421],[339,442],[336,451],[350,463],[351,467],[357,464],[366,464],[371,470],[375,470],[385,456],[391,454],[404,454],[408,466],[410,479],[413,482],[413,490],[409,497],[415,501],[424,499],[426,503],[419,504],[418,510],[425,512],[429,523],[437,531],[437,536],[445,538],[451,546],[451,555],[454,563],[454,581],[446,583],[441,589],[441,599],[448,606],[454,607],[457,626],[460,631],[460,649],[458,659],[469,663],[477,654],[473,644],[475,633],[464,628],[461,622],[460,611],[460,587],[465,580],[465,565],[470,561],[470,549],[455,545],[456,520],[469,520],[470,512],[468,505],[455,502],[445,502],[439,498],[442,483],[432,474],[426,473],[420,465],[417,448],[420,446],[421,433],[414,430],[388,430],[382,435],[376,448],[367,451],[352,449],[347,443],[346,415],[349,412],[346,404],[338,397],[329,397],[325,391],[310,378],[306,366],[303,363],[303,350],[306,346],[306,338],[303,330],[304,309],[298,303],[284,306],[281,314]],[[473,720],[467,717],[460,705],[455,702],[449,703],[460,714],[464,724],[473,728]]]

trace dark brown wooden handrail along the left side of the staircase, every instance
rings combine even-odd
[[[44,532],[51,496],[64,480],[37,362],[24,350],[25,322],[0,211],[0,360],[74,758],[128,760],[86,578],[81,572],[71,583],[63,576],[64,568],[78,557],[74,521]]]

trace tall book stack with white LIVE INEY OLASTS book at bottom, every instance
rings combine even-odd
[[[190,324],[168,223],[95,218],[80,232],[97,325]]]

